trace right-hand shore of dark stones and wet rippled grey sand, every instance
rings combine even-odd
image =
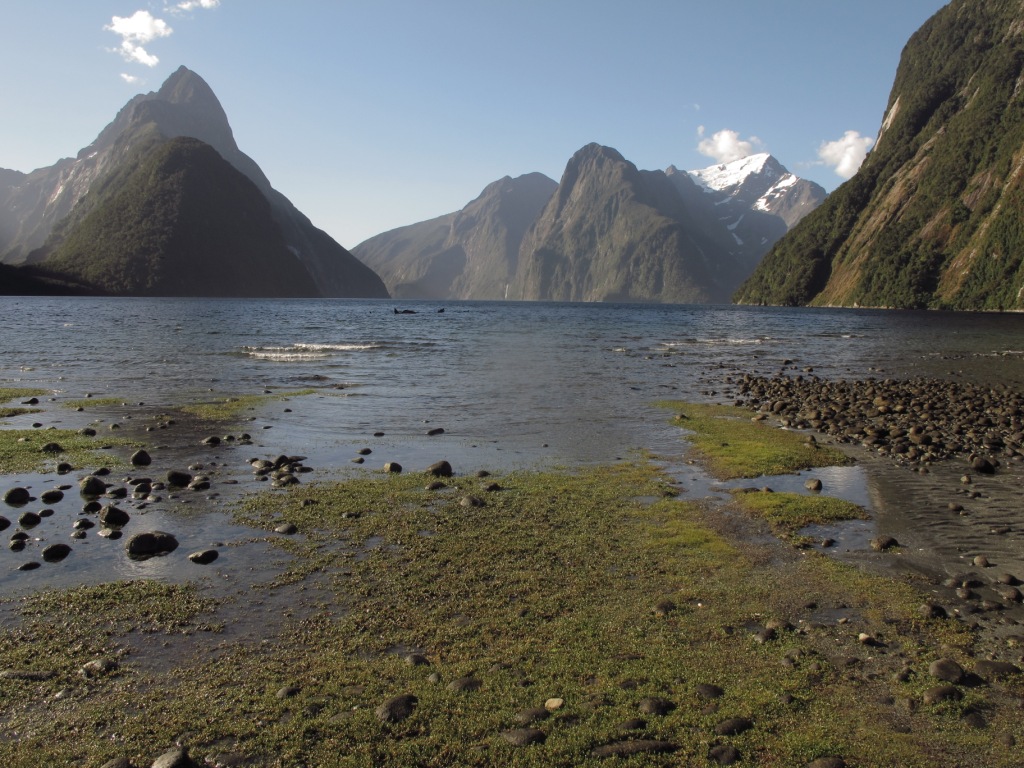
[[[872,564],[924,574],[948,612],[1024,646],[1024,395],[926,378],[726,384],[755,420],[816,434],[866,465],[878,527],[908,545],[898,564],[868,555]]]

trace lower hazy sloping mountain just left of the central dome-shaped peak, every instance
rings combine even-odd
[[[383,232],[352,253],[396,297],[503,299],[523,236],[557,186],[542,173],[506,176],[461,211]]]

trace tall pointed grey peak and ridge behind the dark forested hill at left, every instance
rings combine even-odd
[[[253,227],[252,222],[245,223],[245,217],[268,217],[281,236],[267,242],[276,243],[283,276],[276,284],[260,284],[261,291],[271,291],[267,295],[289,296],[384,298],[388,295],[373,270],[313,226],[305,215],[270,185],[256,162],[238,147],[227,116],[213,90],[185,67],[176,70],[158,91],[138,94],[130,99],[75,159],[62,159],[53,166],[22,176],[13,175],[16,172],[0,175],[0,262],[37,264],[47,269],[60,265],[67,270],[72,268],[69,260],[71,252],[82,258],[101,258],[98,247],[63,247],[62,241],[73,233],[76,225],[93,215],[97,206],[125,204],[123,198],[106,194],[105,187],[121,183],[130,175],[119,173],[119,170],[123,170],[126,164],[140,162],[136,157],[138,153],[155,151],[160,144],[177,138],[193,138],[209,145],[265,199],[266,209],[246,191],[245,199],[252,208],[245,215],[233,211],[219,224],[219,228],[214,225],[215,222],[207,222],[203,227],[205,232],[215,236],[229,249],[230,252],[225,252],[223,258],[229,259],[236,270],[245,271],[248,268],[247,257],[241,244],[250,242],[247,241],[247,230]],[[188,157],[201,162],[206,169],[215,164],[210,156],[202,153],[191,153]],[[244,186],[227,179],[224,182],[237,190]],[[148,188],[163,187],[158,184]],[[224,201],[219,203],[225,210],[230,208]],[[108,222],[116,218],[111,212],[102,216]],[[132,226],[144,226],[144,222],[137,217],[129,215],[127,219],[131,220]],[[109,226],[101,227],[100,231],[112,239],[109,249],[120,253],[125,237]],[[162,254],[162,259],[188,260],[188,254],[173,250],[176,242],[173,239],[165,241],[165,245],[172,250]],[[208,256],[220,258],[212,253]],[[50,260],[49,264],[47,260]],[[124,264],[127,265],[127,262]],[[80,275],[88,271],[88,266],[75,267],[73,271]],[[104,272],[104,275],[108,286],[119,283],[118,275],[110,272]],[[236,282],[256,285],[246,275],[237,278]],[[132,281],[125,283],[129,284],[135,285]],[[303,287],[301,293],[297,294],[300,287]],[[108,290],[98,285],[94,288],[97,291]],[[214,290],[234,295],[234,288],[227,282]]]

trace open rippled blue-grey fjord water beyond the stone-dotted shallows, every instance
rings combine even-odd
[[[726,375],[784,366],[1024,381],[1017,314],[91,298],[3,298],[0,307],[0,386],[155,408],[322,388],[274,435],[321,464],[347,463],[375,431],[391,441],[390,460],[455,452],[499,469],[678,447],[653,401],[714,399]],[[431,427],[445,430],[443,441],[420,439]]]

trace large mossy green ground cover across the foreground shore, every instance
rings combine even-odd
[[[742,407],[660,403],[685,417],[693,461],[752,478],[850,461],[769,427],[750,395],[768,383],[744,385]],[[260,400],[236,402],[204,415],[226,424]],[[785,411],[768,409],[799,420]],[[637,458],[495,475],[439,462],[246,496],[232,514],[270,546],[269,581],[4,601],[0,762],[1019,763],[1020,647],[923,582],[806,546],[809,522],[863,510],[683,490]]]

